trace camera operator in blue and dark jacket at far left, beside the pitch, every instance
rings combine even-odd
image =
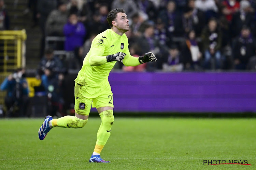
[[[6,117],[27,116],[28,83],[25,79],[25,69],[19,68],[10,74],[2,82],[1,90],[6,90],[5,106],[7,108]]]

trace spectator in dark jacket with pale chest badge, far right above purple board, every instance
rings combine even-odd
[[[233,57],[235,69],[246,69],[249,59],[255,55],[255,40],[248,27],[243,26],[241,35],[234,40]]]

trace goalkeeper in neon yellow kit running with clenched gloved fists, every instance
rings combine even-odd
[[[129,30],[129,20],[123,9],[117,8],[110,11],[107,20],[111,29],[94,38],[90,51],[84,58],[82,69],[75,79],[75,116],[59,119],[46,116],[38,131],[39,139],[43,140],[46,134],[56,126],[83,128],[88,121],[91,107],[96,107],[101,117],[101,125],[89,162],[109,162],[103,160],[100,153],[110,136],[114,122],[113,94],[108,76],[115,63],[137,66],[146,62],[156,62],[156,57],[151,52],[139,58],[130,55],[128,39],[124,34]]]

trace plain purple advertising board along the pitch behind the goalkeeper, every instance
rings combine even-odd
[[[111,72],[115,112],[256,112],[254,72]]]

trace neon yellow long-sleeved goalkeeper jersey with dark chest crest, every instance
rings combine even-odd
[[[128,38],[125,34],[120,36],[111,29],[98,34],[91,43],[90,51],[84,58],[82,69],[79,71],[75,82],[90,87],[103,87],[109,83],[108,76],[116,61],[100,66],[90,66],[89,60],[91,57],[107,56],[117,52],[126,53],[123,61],[132,57],[128,49]]]

